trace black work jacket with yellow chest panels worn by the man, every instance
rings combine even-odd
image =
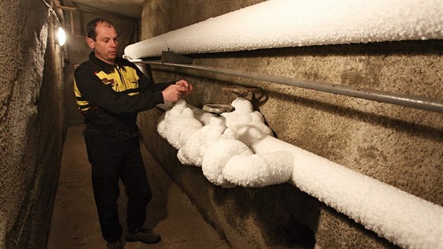
[[[164,103],[162,90],[174,83],[155,84],[129,60],[116,58],[110,65],[96,58],[94,51],[75,70],[74,77],[77,106],[85,123],[111,134],[138,132],[137,113]]]

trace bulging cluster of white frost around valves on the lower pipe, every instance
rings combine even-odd
[[[202,167],[209,181],[223,187],[262,187],[290,179],[290,153],[259,155],[249,148],[257,139],[271,134],[250,101],[237,98],[231,105],[211,104],[203,109],[213,114],[207,125],[198,122],[182,100],[159,119],[158,132],[179,149],[181,163]]]

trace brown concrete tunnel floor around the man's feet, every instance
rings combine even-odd
[[[70,127],[67,132],[47,249],[106,248],[92,194],[91,167],[87,160],[83,130],[84,126],[76,126]],[[229,248],[212,226],[205,222],[186,194],[167,177],[144,146],[141,146],[141,153],[153,189],[145,226],[160,234],[162,241],[149,245],[141,242],[127,243],[122,238],[124,247]],[[126,196],[122,186],[119,198],[122,224],[126,217],[124,203]]]

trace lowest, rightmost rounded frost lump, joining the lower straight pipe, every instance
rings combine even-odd
[[[293,155],[288,151],[234,155],[222,170],[224,179],[245,187],[283,184],[292,172]]]

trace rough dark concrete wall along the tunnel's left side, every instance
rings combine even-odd
[[[0,248],[45,248],[65,132],[63,58],[42,1],[1,1],[0,20]]]

